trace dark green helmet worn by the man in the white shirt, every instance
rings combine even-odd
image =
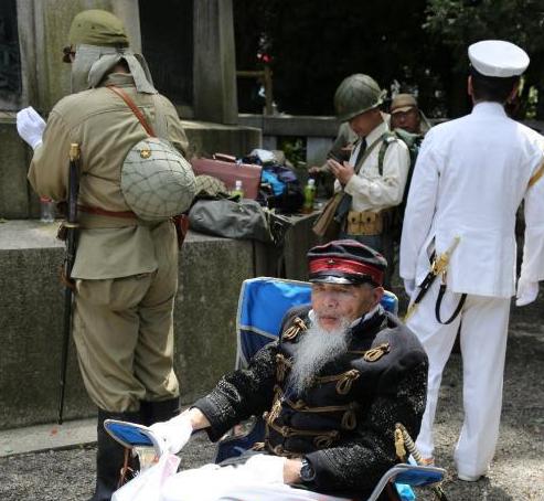
[[[334,109],[340,121],[351,120],[383,103],[385,92],[369,75],[358,73],[344,78],[334,94]]]

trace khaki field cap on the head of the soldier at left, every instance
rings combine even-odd
[[[68,43],[126,47],[128,36],[122,21],[111,12],[99,9],[79,12],[70,26]]]

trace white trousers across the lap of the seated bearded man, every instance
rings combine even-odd
[[[294,489],[285,483],[263,483],[244,472],[244,465],[205,465],[167,479],[161,501],[349,501],[346,498]]]

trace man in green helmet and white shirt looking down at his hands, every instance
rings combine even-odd
[[[340,121],[359,136],[350,161],[328,161],[337,178],[334,191],[350,195],[337,217],[342,220],[340,238],[352,238],[382,253],[391,264],[385,277],[390,286],[394,269],[393,207],[403,201],[409,170],[407,146],[390,130],[380,110],[385,93],[369,75],[351,75],[339,85],[334,107]],[[382,161],[380,161],[382,159]]]

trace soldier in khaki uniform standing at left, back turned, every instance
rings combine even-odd
[[[103,501],[117,488],[124,459],[122,448],[105,433],[104,419],[150,425],[179,409],[172,322],[175,228],[170,221],[139,220],[125,202],[121,167],[147,134],[106,86],[125,90],[153,128],[166,120],[168,139],[181,152],[188,141],[173,105],[152,86],[145,60],[129,51],[119,19],[106,11],[81,12],[70,43],[65,57],[72,62],[76,94],[53,108],[42,143],[38,136],[28,140],[34,147],[29,180],[40,195],[66,200],[70,145],[81,145],[74,340],[85,386],[99,409],[92,500]]]

